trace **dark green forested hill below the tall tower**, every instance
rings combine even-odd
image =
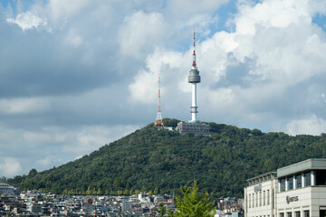
[[[164,119],[176,126],[176,119]],[[326,157],[326,135],[262,133],[209,123],[211,137],[179,135],[149,124],[59,167],[9,179],[21,189],[56,193],[172,193],[197,180],[216,196],[242,196],[245,180],[308,158]],[[88,191],[87,191],[88,190]],[[91,191],[90,191],[91,190]],[[132,190],[132,191],[131,191]]]

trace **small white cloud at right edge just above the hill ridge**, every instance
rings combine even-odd
[[[309,134],[320,136],[325,133],[326,120],[311,115],[307,118],[294,119],[286,125],[287,132],[291,135]]]

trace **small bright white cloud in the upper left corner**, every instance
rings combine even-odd
[[[15,18],[7,18],[6,21],[11,24],[19,25],[23,30],[29,30],[32,28],[37,29],[39,26],[45,26],[47,24],[45,18],[41,18],[32,12],[17,14]]]

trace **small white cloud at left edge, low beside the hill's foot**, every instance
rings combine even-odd
[[[0,159],[0,173],[7,177],[17,175],[22,172],[22,165],[19,159],[14,157],[4,157]]]

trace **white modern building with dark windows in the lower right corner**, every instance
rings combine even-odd
[[[246,217],[326,216],[326,159],[308,159],[247,182]]]

